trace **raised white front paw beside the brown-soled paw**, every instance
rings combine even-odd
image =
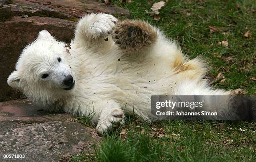
[[[83,17],[77,25],[77,30],[89,40],[107,37],[113,31],[117,18],[105,13],[90,14]]]

